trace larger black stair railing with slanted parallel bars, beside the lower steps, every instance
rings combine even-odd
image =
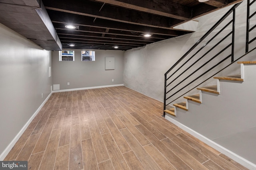
[[[181,90],[183,90],[184,88],[188,87],[190,84],[192,84],[193,82],[195,82],[196,80],[198,80],[200,77],[204,76],[204,74],[208,73],[210,70],[214,69],[216,66],[218,66],[219,64],[223,63],[224,61],[226,61],[228,58],[231,57],[231,62],[234,62],[234,33],[235,33],[235,10],[236,8],[241,4],[242,2],[235,4],[232,8],[230,8],[230,10],[222,17],[220,18],[220,20],[212,26],[212,28],[207,31],[202,37],[201,39],[199,39],[165,74],[164,74],[164,110],[166,109],[166,107],[168,105],[170,105],[172,102],[174,102],[175,100],[177,100],[178,98],[180,98],[181,96],[183,96],[184,94],[186,94],[187,92],[189,92],[190,90],[186,91],[184,94],[178,96],[178,97],[174,97],[175,94],[177,94],[178,92],[180,92]],[[220,31],[218,31],[214,36],[212,36],[210,38],[210,40],[208,40],[204,45],[202,45],[201,48],[199,48],[198,50],[196,49],[196,47],[198,47],[198,45],[200,43],[203,42],[204,39],[206,39],[206,37],[208,37],[210,35],[210,33],[212,33],[214,30],[216,30],[216,28],[218,27],[218,25],[220,25],[224,20],[228,20],[228,16],[232,15],[232,19],[230,21],[228,21],[226,23],[226,25],[223,26],[222,29],[220,29]],[[232,25],[231,25],[232,24]],[[204,54],[200,54],[200,52],[202,52],[202,49],[204,49],[207,45],[209,45],[210,42],[212,42],[213,40],[216,39],[216,37],[224,32],[224,30],[231,25],[231,31],[228,33],[225,33],[225,37],[223,37],[222,39],[218,40],[218,43],[216,43],[215,45],[210,46],[210,49],[208,49],[208,51]],[[226,30],[225,30],[226,31]],[[209,36],[210,37],[210,36]],[[220,43],[227,41],[228,37],[231,37],[231,42],[230,43],[226,43],[225,42],[225,47],[223,47],[222,50],[220,50],[217,54],[215,54],[214,56],[211,56],[211,58],[208,58],[207,60],[204,60],[204,62],[202,62],[202,59],[204,59],[206,57],[206,55],[210,56],[211,53],[213,53],[213,50],[216,49],[216,47],[220,46]],[[230,40],[229,40],[230,41]],[[222,45],[223,46],[223,45]],[[221,46],[221,47],[222,47]],[[230,49],[231,47],[231,49]],[[220,47],[219,47],[220,48]],[[194,49],[197,50],[194,52]],[[204,71],[202,74],[200,73],[200,75],[197,75],[195,78],[193,78],[193,80],[189,81],[188,83],[182,84],[183,82],[185,82],[185,80],[187,80],[188,78],[190,78],[192,75],[194,75],[195,73],[198,73],[198,71],[203,68],[206,64],[211,63],[211,61],[213,61],[214,59],[216,59],[216,57],[219,57],[220,55],[226,55],[226,53],[224,54],[224,51],[226,51],[227,49],[230,49],[230,54],[227,55],[227,57],[225,57],[224,59],[219,59],[218,63],[214,63],[212,64],[212,66],[209,66],[210,68],[208,68],[206,71]],[[192,54],[192,51],[194,52],[194,54]],[[189,57],[189,55],[192,55],[191,57]],[[196,59],[196,57],[202,55],[201,57],[199,57],[196,61],[192,61],[193,59]],[[185,66],[185,64],[187,64],[189,61],[191,61],[189,64],[189,66]],[[183,62],[183,64],[182,64]],[[193,72],[189,72],[189,69],[192,68],[192,66],[194,66],[196,63],[198,64],[198,62],[200,63],[198,68],[196,68],[196,70],[194,70]],[[181,65],[181,66],[180,66]],[[181,73],[180,73],[181,72]],[[186,73],[186,74],[185,74]],[[178,74],[176,76],[176,74]],[[182,75],[188,75],[185,78],[182,78]],[[208,78],[209,79],[209,78]],[[170,81],[170,82],[167,82]],[[202,82],[199,82],[198,85],[202,84]],[[197,86],[198,86],[197,85]],[[174,90],[175,88],[179,88]],[[173,92],[174,91],[174,92]],[[165,111],[163,114],[163,117],[165,117]]]

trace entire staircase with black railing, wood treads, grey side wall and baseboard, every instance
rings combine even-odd
[[[244,55],[234,57],[235,44],[237,49],[244,48],[234,39],[239,3],[172,64],[164,74],[162,116],[226,156],[256,170],[255,2],[247,0],[246,4]],[[221,23],[227,24],[218,28]],[[227,33],[223,33],[224,30]],[[213,39],[218,39],[218,43],[214,44]],[[232,75],[239,72],[236,64],[240,64],[240,74]],[[225,72],[231,75],[224,75]]]

